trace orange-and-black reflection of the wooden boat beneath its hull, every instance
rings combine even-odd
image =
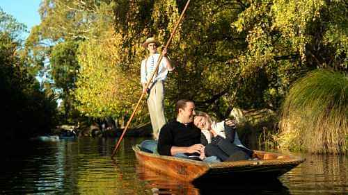
[[[139,179],[153,194],[290,194],[278,179],[274,180],[211,180],[189,183],[136,165]]]

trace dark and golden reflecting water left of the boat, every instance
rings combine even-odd
[[[84,138],[13,145],[0,167],[0,194],[150,194],[134,174],[129,149],[137,141],[127,139],[116,162],[110,158],[113,142]]]

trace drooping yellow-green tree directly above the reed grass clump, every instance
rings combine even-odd
[[[259,96],[277,110],[291,83],[308,71],[318,67],[347,71],[343,15],[345,1],[248,1],[232,23],[246,34],[248,46],[237,58],[246,84],[264,72],[268,86]]]

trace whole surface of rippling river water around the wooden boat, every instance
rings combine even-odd
[[[348,194],[348,157],[306,155],[306,161],[269,183],[192,185],[142,167],[126,137],[18,142],[2,147],[0,194]]]

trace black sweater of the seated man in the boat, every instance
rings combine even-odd
[[[188,147],[200,144],[200,129],[193,122],[182,124],[176,120],[165,124],[159,133],[157,151],[160,155],[171,155],[171,147]],[[185,153],[199,155],[198,153]]]

